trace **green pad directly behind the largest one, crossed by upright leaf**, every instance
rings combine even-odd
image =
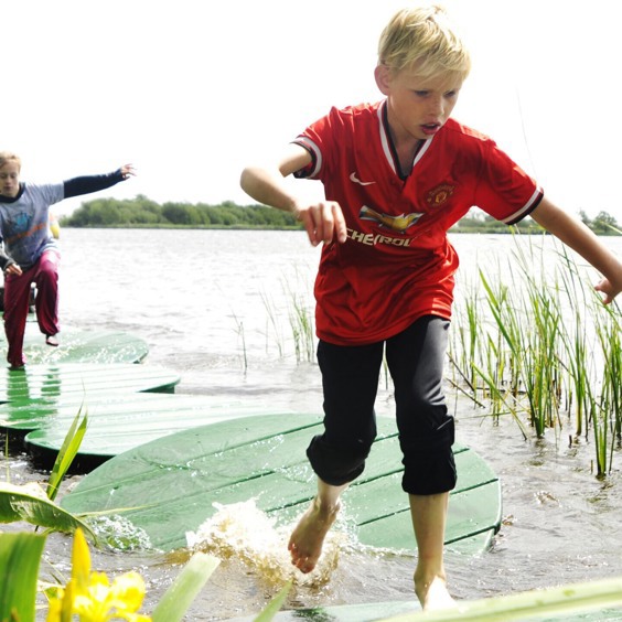
[[[25,447],[39,467],[50,469],[79,407],[75,400],[4,404],[0,421],[8,421],[12,429],[34,430],[26,435]],[[202,395],[136,393],[87,397],[84,411],[88,428],[77,453],[81,471],[161,437],[256,415],[258,409]]]

